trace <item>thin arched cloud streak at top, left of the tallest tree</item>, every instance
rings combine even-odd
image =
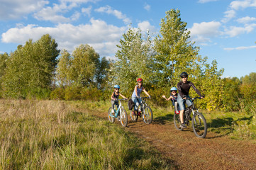
[[[126,24],[131,23],[130,18],[126,17],[126,15],[124,15],[121,11],[112,9],[111,6],[96,8],[94,11],[99,13],[112,14],[113,16],[116,16],[116,18],[123,20],[123,22]]]

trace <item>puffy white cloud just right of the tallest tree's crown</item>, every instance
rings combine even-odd
[[[219,28],[221,27],[220,22],[202,22],[194,23],[192,28],[188,29],[191,33],[191,39],[196,42],[209,42],[210,38],[221,34]]]

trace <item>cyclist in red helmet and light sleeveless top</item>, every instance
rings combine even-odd
[[[142,102],[140,99],[141,91],[144,91],[144,93],[150,97],[150,94],[148,94],[148,91],[146,91],[143,87],[143,79],[139,78],[139,79],[137,79],[137,85],[135,86],[134,91],[133,91],[132,101],[133,101],[133,103],[135,103],[133,114],[135,113],[135,111],[137,111],[137,113],[140,117],[141,117],[141,115],[140,115],[140,111],[138,111],[138,106]]]

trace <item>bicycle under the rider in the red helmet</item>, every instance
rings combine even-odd
[[[149,98],[149,97],[142,97],[142,102],[140,103],[139,107],[138,107],[138,112],[133,112],[133,109],[130,110],[130,119],[133,122],[136,122],[138,120],[138,116],[142,115],[143,116],[143,122],[146,124],[150,124],[152,123],[152,119],[153,119],[153,113],[152,113],[152,109],[150,108],[150,106],[147,105],[145,98]]]

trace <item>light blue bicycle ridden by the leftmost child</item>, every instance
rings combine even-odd
[[[121,101],[126,101],[127,99],[123,98],[123,99],[117,99],[117,101],[119,101],[119,107],[116,108],[117,106],[115,105],[114,108],[114,113],[112,113],[112,107],[110,107],[108,109],[108,120],[111,123],[114,123],[116,118],[118,118],[118,121],[120,120],[121,125],[123,127],[127,126],[128,123],[128,118],[127,118],[127,113],[126,113],[126,109],[123,108]]]

